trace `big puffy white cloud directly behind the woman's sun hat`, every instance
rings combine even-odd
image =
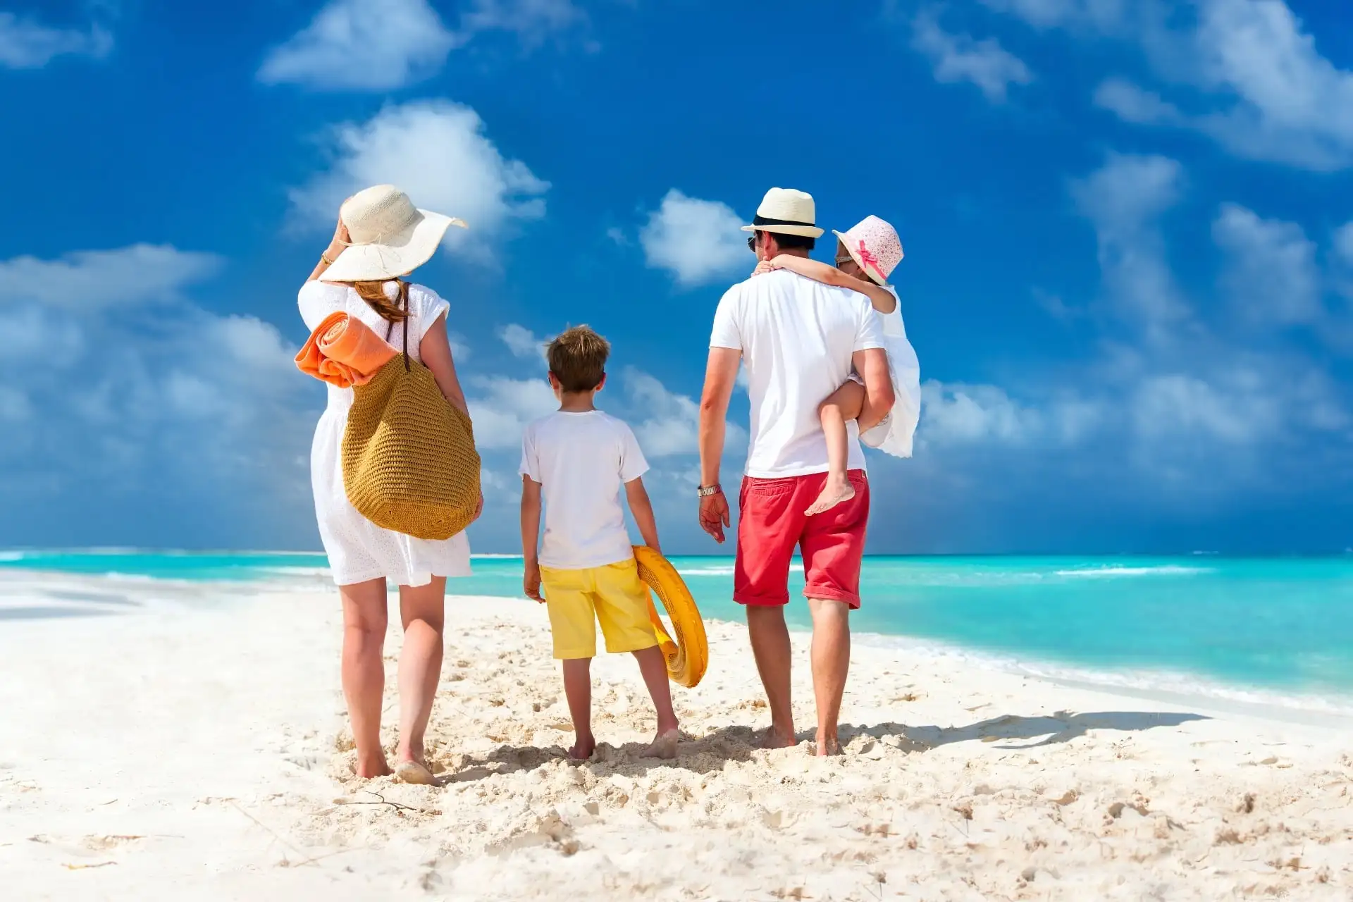
[[[333,165],[290,192],[292,216],[331,229],[345,197],[377,184],[395,184],[419,207],[468,222],[468,231],[448,230],[446,246],[480,257],[491,256],[487,241],[511,223],[543,216],[549,188],[526,164],[503,157],[474,110],[426,100],[336,128]]]

